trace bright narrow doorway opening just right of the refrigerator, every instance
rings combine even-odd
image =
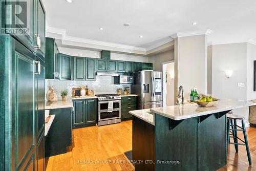
[[[163,106],[175,105],[175,63],[167,61],[162,63],[163,71]]]

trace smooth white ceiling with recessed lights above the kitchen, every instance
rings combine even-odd
[[[47,25],[67,36],[148,49],[176,32],[210,29],[212,44],[256,38],[256,1],[44,0]],[[197,25],[191,25],[197,22]],[[124,27],[130,23],[130,27]],[[102,27],[103,30],[98,28]],[[143,38],[139,36],[143,35]]]

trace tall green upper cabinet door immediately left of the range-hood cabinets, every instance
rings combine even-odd
[[[96,80],[96,59],[86,58],[86,80]]]

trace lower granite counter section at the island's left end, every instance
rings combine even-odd
[[[146,121],[147,123],[155,125],[155,114],[150,112],[150,109],[130,111],[129,113]]]

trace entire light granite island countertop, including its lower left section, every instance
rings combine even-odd
[[[247,106],[256,105],[251,101],[238,101],[233,99],[220,100],[216,105],[209,107],[202,107],[196,103],[187,103],[183,105],[166,106],[162,108],[152,108],[150,110],[136,110],[129,113],[154,125],[154,115],[162,115],[173,120],[188,119],[208,114],[214,114],[223,111],[229,111]],[[145,115],[145,112],[147,113]]]

